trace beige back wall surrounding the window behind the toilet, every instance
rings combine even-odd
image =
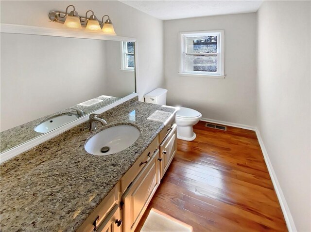
[[[178,32],[208,30],[225,30],[225,79],[178,76]],[[256,13],[164,21],[164,51],[168,105],[255,126]]]

